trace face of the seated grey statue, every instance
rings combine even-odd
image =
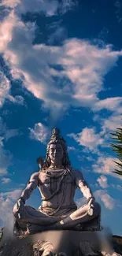
[[[51,144],[49,154],[51,162],[57,162],[58,164],[58,162],[60,162],[63,158],[63,148],[61,147],[61,144]]]

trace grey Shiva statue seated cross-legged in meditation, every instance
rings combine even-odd
[[[87,227],[91,226],[91,223],[98,224],[95,220],[100,220],[101,207],[95,201],[83,174],[72,169],[65,139],[61,137],[59,129],[54,128],[52,131],[46,148],[46,160],[38,158],[38,163],[39,172],[31,175],[27,186],[13,206],[16,219],[14,228],[26,230],[26,234],[33,234],[53,229],[83,230],[85,225]],[[25,205],[36,187],[42,197],[38,210]],[[74,202],[77,187],[87,198],[87,203],[79,208]]]

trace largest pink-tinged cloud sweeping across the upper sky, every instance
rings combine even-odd
[[[107,102],[98,103],[98,93],[103,90],[106,73],[116,65],[122,51],[113,50],[111,45],[99,47],[81,39],[65,40],[61,46],[33,45],[35,24],[22,22],[20,13],[43,11],[46,16],[54,15],[61,9],[65,12],[72,8],[73,1],[12,2],[13,7],[17,6],[2,23],[1,50],[13,76],[17,71],[24,87],[35,98],[41,99],[44,107],[55,111],[52,117],[69,106],[108,108]],[[12,5],[9,0],[6,3]]]

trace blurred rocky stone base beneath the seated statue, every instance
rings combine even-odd
[[[102,255],[101,251],[98,232],[65,230],[18,237],[7,237],[5,232],[0,243],[0,256],[88,256]]]

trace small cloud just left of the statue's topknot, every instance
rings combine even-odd
[[[35,124],[35,128],[29,128],[30,138],[39,140],[41,143],[46,143],[46,140],[50,134],[48,128],[42,123]]]

